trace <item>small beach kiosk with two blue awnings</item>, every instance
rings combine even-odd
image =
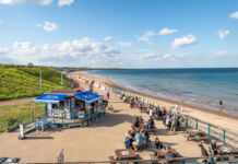
[[[45,104],[47,122],[63,128],[91,125],[106,110],[102,96],[88,91],[75,94],[47,93],[35,98],[34,103]]]

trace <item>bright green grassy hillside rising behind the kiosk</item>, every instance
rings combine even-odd
[[[40,95],[39,70],[43,77],[43,93],[61,89],[61,73],[55,68],[0,65],[0,101]],[[69,87],[66,78],[63,87]]]

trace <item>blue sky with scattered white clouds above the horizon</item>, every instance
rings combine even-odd
[[[0,0],[0,63],[238,67],[237,0]]]

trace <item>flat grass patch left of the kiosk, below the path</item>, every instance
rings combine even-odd
[[[23,103],[0,106],[0,132],[7,130],[8,121],[15,120],[15,125],[20,120],[24,124],[31,122],[33,112],[35,112],[35,117],[44,116],[45,104]]]

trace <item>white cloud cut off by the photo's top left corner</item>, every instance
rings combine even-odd
[[[37,3],[41,5],[48,5],[51,4],[53,0],[0,0],[0,4],[8,4],[8,5],[14,5],[20,4],[24,2],[32,2]]]

